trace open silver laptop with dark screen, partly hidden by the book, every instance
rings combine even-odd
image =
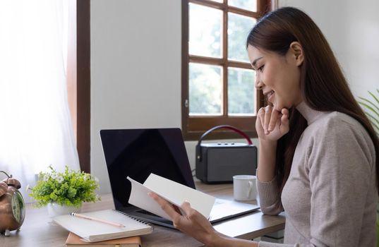
[[[132,179],[143,183],[150,173],[195,188],[180,128],[106,129],[100,131],[114,207],[146,222],[174,228],[171,221],[128,203]],[[258,205],[217,199],[212,224],[258,210]]]

